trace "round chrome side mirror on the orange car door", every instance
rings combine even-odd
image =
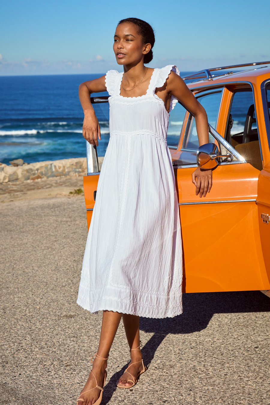
[[[218,158],[226,158],[227,162],[233,160],[231,153],[219,155],[219,148],[214,143],[206,143],[199,146],[197,150],[197,165],[202,169],[213,169],[219,161]]]

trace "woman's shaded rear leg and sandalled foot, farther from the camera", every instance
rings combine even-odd
[[[139,316],[129,315],[127,313],[122,314],[124,328],[126,332],[126,339],[129,343],[130,349],[135,349],[140,345],[140,330],[139,330]],[[135,363],[132,367],[129,367],[129,373],[131,373],[136,380],[137,374],[139,371],[143,369],[141,359],[141,351],[140,350],[132,350],[131,351],[131,362],[130,364]],[[120,379],[119,383],[126,387],[132,385],[131,382],[127,382],[128,379],[132,379],[131,375],[128,373],[124,373]]]

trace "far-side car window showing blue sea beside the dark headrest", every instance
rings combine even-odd
[[[231,127],[231,135],[239,135],[244,132],[246,115],[252,104],[254,104],[252,91],[236,92],[234,94],[231,104],[231,118],[234,120]],[[257,128],[256,122],[252,124],[251,128]]]

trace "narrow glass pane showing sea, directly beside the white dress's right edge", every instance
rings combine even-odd
[[[171,110],[167,132],[167,144],[169,147],[177,147],[180,139],[186,109],[179,102]]]

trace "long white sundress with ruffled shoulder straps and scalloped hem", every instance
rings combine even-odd
[[[154,94],[176,66],[154,69],[146,95],[120,96],[109,70],[110,139],[96,191],[77,303],[147,318],[182,313],[182,240],[169,113]],[[171,97],[170,111],[177,100]]]

